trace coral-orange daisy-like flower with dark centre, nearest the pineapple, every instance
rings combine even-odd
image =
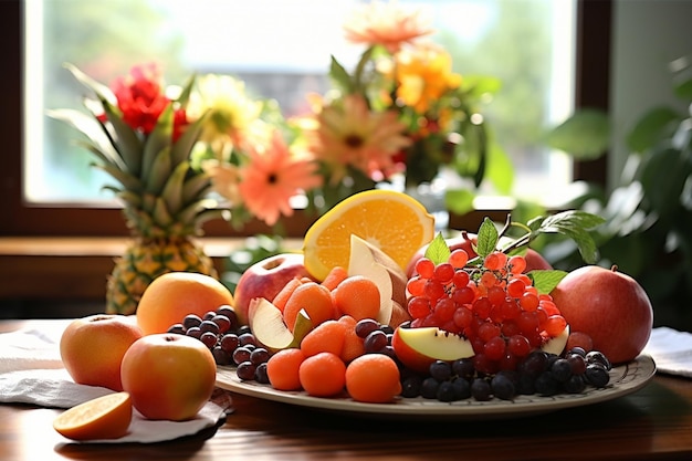
[[[277,130],[268,146],[250,147],[248,157],[238,188],[245,208],[269,226],[275,224],[281,214],[293,214],[292,197],[322,186],[317,165],[292,153]]]

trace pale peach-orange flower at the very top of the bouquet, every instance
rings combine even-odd
[[[379,44],[392,54],[405,43],[432,32],[420,20],[418,11],[403,10],[396,1],[374,1],[360,7],[346,22],[344,30],[350,42],[370,46]]]

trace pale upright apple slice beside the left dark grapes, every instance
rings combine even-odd
[[[250,302],[248,319],[255,339],[271,352],[298,347],[305,335],[313,329],[307,312],[301,310],[291,333],[281,310],[264,297],[255,297]]]

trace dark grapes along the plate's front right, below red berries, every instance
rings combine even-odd
[[[492,398],[512,400],[521,395],[580,394],[587,386],[606,387],[610,369],[610,362],[602,353],[586,353],[580,347],[560,356],[535,349],[515,369],[492,375],[479,371],[472,358],[451,363],[436,360],[426,376],[402,370],[401,396],[440,401],[468,398],[485,401]]]

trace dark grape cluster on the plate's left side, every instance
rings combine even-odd
[[[266,362],[270,352],[258,344],[248,325],[240,325],[232,306],[223,305],[203,316],[187,315],[168,333],[201,340],[213,355],[217,365],[235,365],[238,377],[269,384]]]

